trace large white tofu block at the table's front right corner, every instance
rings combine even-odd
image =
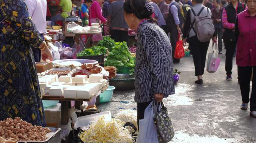
[[[89,99],[98,92],[98,85],[94,83],[81,86],[76,90],[76,98],[78,99]]]

